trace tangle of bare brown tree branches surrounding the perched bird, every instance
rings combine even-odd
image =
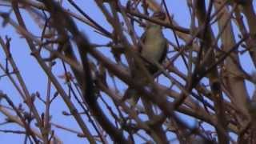
[[[253,0],[187,0],[181,6],[189,11],[187,27],[166,2],[94,0],[106,21],[98,22],[78,1],[1,0],[1,30],[15,30],[0,37],[1,78],[18,96],[0,87],[6,125],[0,131],[25,143],[62,143],[59,130],[90,143],[256,143]],[[155,12],[165,19],[152,18]],[[162,26],[168,41],[164,62],[151,63],[154,74],[138,50],[148,23]],[[94,35],[81,26],[108,42],[90,41]],[[30,91],[17,65],[22,59],[13,56],[16,35],[26,42],[21,49],[30,50],[23,57],[34,58],[46,74],[45,83],[34,80],[38,91]],[[139,98],[134,105],[124,98],[127,87]],[[54,106],[62,121],[79,128],[55,122]],[[8,129],[17,124],[21,129]]]

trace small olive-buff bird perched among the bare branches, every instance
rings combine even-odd
[[[165,17],[166,14],[163,12],[155,12],[151,16],[151,18],[155,20],[164,20]],[[168,49],[167,40],[162,33],[162,26],[154,22],[148,22],[146,30],[140,39],[143,45],[138,48],[138,52],[142,57],[142,62],[146,66],[146,70],[153,76],[158,71],[158,66],[155,66],[154,62],[161,64],[166,58]],[[142,74],[135,75],[142,77]],[[140,78],[140,80],[143,81],[143,78]],[[138,102],[138,98],[136,90],[128,87],[122,99],[129,99],[130,105],[135,106]]]

